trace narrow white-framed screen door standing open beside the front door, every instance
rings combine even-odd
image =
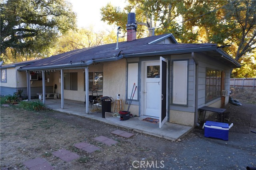
[[[161,128],[167,121],[167,60],[160,57],[160,88],[161,88],[161,114],[159,117],[159,127]]]

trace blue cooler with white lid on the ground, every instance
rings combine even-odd
[[[203,126],[204,136],[228,141],[228,131],[232,126],[233,123],[231,123],[231,125],[228,126],[228,123],[206,121],[206,123],[204,123]]]

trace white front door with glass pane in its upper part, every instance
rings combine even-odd
[[[159,117],[161,105],[160,61],[145,61],[143,63],[143,115]]]

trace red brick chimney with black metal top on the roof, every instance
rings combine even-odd
[[[136,39],[137,23],[135,19],[135,13],[128,14],[128,20],[126,24],[127,30],[127,42]]]

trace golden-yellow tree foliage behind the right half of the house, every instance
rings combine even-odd
[[[225,50],[236,61],[244,64],[245,69],[255,67],[252,57],[256,48],[255,0],[128,2],[130,4],[123,11],[112,6],[102,8],[102,20],[109,21],[110,24],[123,24],[127,21],[124,16],[132,9],[138,11],[138,14],[135,12],[137,20],[150,18],[152,23],[158,23],[156,34],[173,33],[182,43],[216,43],[219,46],[231,44]],[[110,16],[107,16],[108,12]],[[146,23],[148,20],[141,21]],[[138,24],[143,25],[140,21]],[[151,27],[152,25],[147,28]]]

